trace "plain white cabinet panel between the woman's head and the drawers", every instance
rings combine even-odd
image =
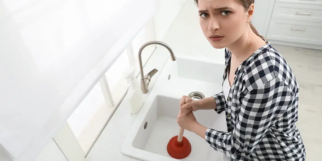
[[[262,36],[267,36],[275,0],[255,0],[252,23]]]

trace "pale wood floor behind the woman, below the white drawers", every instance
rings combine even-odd
[[[299,84],[298,127],[306,160],[322,158],[322,51],[274,45],[289,63]]]

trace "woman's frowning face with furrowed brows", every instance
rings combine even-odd
[[[199,0],[200,26],[209,43],[221,49],[246,31],[250,19],[239,0]]]

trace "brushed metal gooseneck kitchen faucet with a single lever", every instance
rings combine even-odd
[[[149,83],[151,81],[151,78],[154,76],[154,74],[156,74],[156,72],[158,71],[157,69],[153,69],[152,71],[150,71],[149,73],[147,73],[146,75],[144,75],[143,73],[143,65],[142,65],[142,51],[145,47],[147,47],[148,45],[152,45],[152,44],[157,44],[157,45],[161,45],[161,46],[164,46],[166,49],[168,49],[168,51],[170,52],[170,55],[171,55],[171,60],[172,61],[175,61],[176,60],[176,57],[175,57],[175,54],[173,53],[172,49],[170,48],[169,45],[167,45],[166,43],[163,43],[163,42],[160,42],[160,41],[149,41],[145,44],[143,44],[141,46],[141,48],[139,49],[139,55],[138,55],[138,58],[139,58],[139,66],[140,66],[140,74],[141,74],[141,91],[143,94],[146,94],[149,90],[148,90],[148,86],[149,86]]]

